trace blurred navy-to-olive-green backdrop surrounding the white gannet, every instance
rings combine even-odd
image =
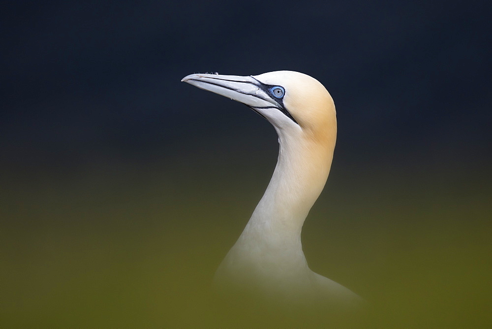
[[[491,324],[488,1],[1,7],[3,325],[235,321],[204,287],[277,138],[180,80],[274,70],[313,76],[337,106],[310,267],[378,321]]]

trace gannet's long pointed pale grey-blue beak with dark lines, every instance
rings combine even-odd
[[[255,108],[280,108],[281,105],[268,95],[265,85],[252,76],[190,74],[183,78],[198,88],[211,91]]]

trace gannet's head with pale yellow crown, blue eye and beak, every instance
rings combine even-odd
[[[303,132],[314,139],[336,134],[335,104],[316,79],[294,71],[256,76],[190,74],[184,82],[237,100],[266,118],[279,135]]]

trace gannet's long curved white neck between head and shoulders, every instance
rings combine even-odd
[[[301,130],[277,133],[277,166],[240,241],[260,244],[272,251],[278,247],[287,253],[296,250],[304,258],[302,226],[328,178],[335,137],[319,141]]]

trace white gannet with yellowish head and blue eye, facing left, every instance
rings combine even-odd
[[[358,304],[358,295],[309,269],[301,244],[301,229],[325,186],[337,136],[335,104],[325,87],[294,71],[190,74],[181,81],[246,104],[278,134],[272,179],[217,269],[215,284],[251,289],[271,301]]]

